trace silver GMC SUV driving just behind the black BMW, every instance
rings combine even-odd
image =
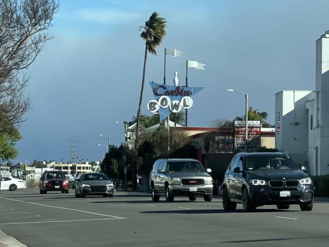
[[[205,201],[211,201],[213,179],[207,172],[196,159],[156,160],[149,178],[152,200],[158,201],[160,195],[165,195],[167,201],[174,201],[175,195],[195,200],[197,195],[203,195]]]

